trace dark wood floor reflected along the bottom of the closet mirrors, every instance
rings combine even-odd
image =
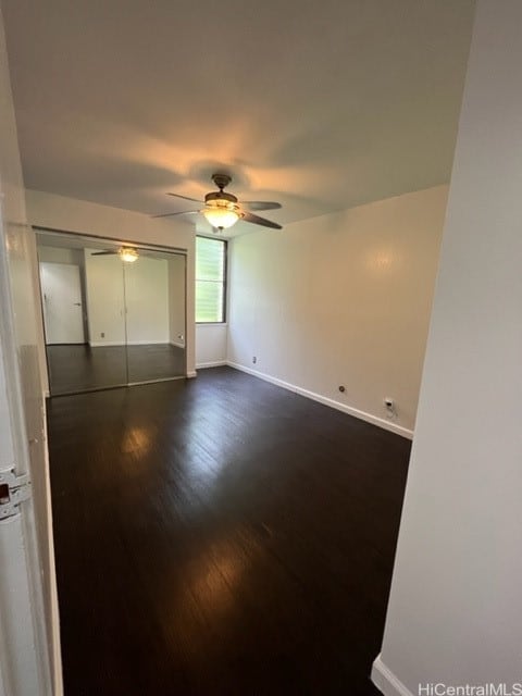
[[[186,374],[185,349],[171,344],[52,345],[47,346],[47,362],[54,396]]]

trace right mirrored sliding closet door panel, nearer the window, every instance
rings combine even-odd
[[[139,249],[124,287],[128,383],[185,376],[185,257]]]

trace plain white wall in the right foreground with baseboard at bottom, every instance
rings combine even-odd
[[[480,0],[374,669],[386,694],[522,682],[521,64],[522,3]]]

